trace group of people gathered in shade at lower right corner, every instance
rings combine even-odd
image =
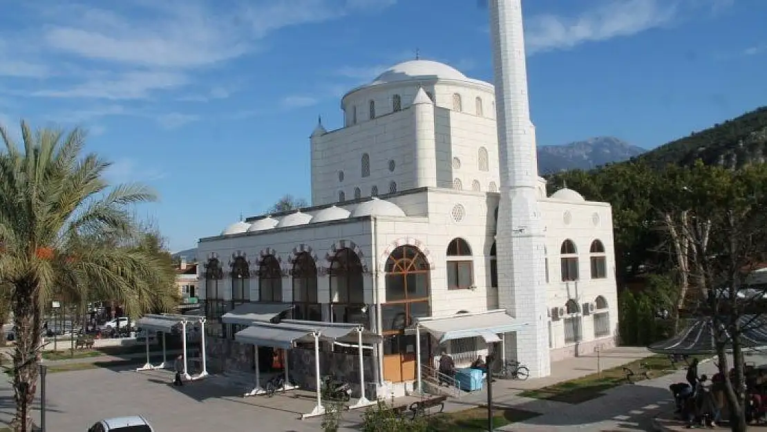
[[[676,414],[681,414],[687,427],[716,427],[722,420],[725,404],[724,381],[726,377],[717,372],[709,380],[706,374],[698,375],[697,358],[687,368],[686,381],[670,385],[670,391],[676,401]],[[767,414],[767,375],[764,371],[746,367],[746,419],[759,420]],[[734,368],[730,371],[730,378]]]

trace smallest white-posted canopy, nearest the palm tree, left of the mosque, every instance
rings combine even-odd
[[[200,325],[200,337],[202,338],[200,341],[200,357],[202,360],[202,371],[195,375],[194,377],[189,375],[189,366],[188,366],[188,358],[186,355],[186,326],[190,323],[196,323],[199,322]],[[183,355],[183,361],[184,361],[184,372],[183,377],[187,380],[199,380],[200,378],[205,378],[208,376],[208,370],[206,367],[206,356],[205,356],[205,317],[204,316],[196,316],[196,315],[144,315],[143,318],[140,318],[137,322],[138,327],[146,329],[146,364],[144,364],[141,368],[137,368],[137,371],[150,371],[152,369],[163,369],[169,366],[166,364],[167,358],[166,358],[166,345],[165,345],[165,335],[166,333],[173,332],[173,328],[176,328],[176,326],[181,326],[181,344],[182,344],[182,355]],[[163,332],[163,362],[154,366],[150,363],[149,358],[149,331],[162,331]]]

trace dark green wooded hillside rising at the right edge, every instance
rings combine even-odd
[[[757,108],[723,124],[693,132],[637,157],[651,167],[669,163],[690,165],[695,160],[729,168],[765,162],[767,157],[767,107]]]

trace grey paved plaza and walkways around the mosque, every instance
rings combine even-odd
[[[641,348],[616,348],[600,359],[605,369],[647,355]],[[765,356],[748,361],[764,363]],[[712,374],[713,364],[701,366]],[[505,430],[651,430],[652,419],[670,410],[668,385],[683,381],[684,371],[615,387],[603,397],[581,404],[538,401],[518,397],[520,391],[543,387],[596,371],[594,357],[571,358],[552,364],[549,378],[528,381],[496,381],[495,401],[501,406],[534,411],[542,415]],[[48,376],[48,430],[84,432],[96,420],[127,414],[142,414],[162,432],[206,432],[207,430],[321,430],[320,418],[299,420],[314,407],[314,393],[291,391],[275,397],[242,397],[242,387],[224,378],[211,377],[170,385],[170,371],[137,372],[135,368],[100,368]],[[453,400],[446,411],[458,411],[481,404],[485,394]],[[13,401],[8,384],[0,386],[0,421],[10,420]],[[344,429],[354,430],[361,411],[344,414]],[[39,418],[35,405],[35,418]]]

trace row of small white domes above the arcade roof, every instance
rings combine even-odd
[[[314,216],[308,213],[301,213],[298,210],[296,213],[291,213],[287,216],[282,216],[280,219],[275,219],[272,216],[266,216],[265,218],[258,219],[253,223],[247,223],[239,221],[227,226],[222,232],[222,236],[232,236],[234,234],[242,234],[243,232],[258,232],[265,231],[273,228],[285,228],[288,226],[306,225],[308,223],[320,223],[328,222],[331,220],[347,219],[349,217],[362,217],[362,216],[407,216],[397,204],[387,200],[380,200],[373,198],[365,201],[364,203],[357,204],[350,212],[347,209],[343,209],[337,206],[330,206],[326,209],[321,209]]]

